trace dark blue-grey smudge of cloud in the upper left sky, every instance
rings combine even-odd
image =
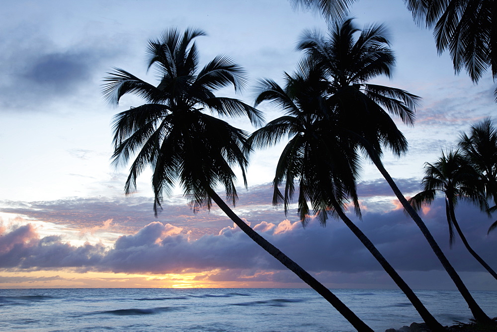
[[[59,43],[49,35],[47,23],[9,23],[0,38],[0,112],[40,112],[53,110],[48,108],[53,102],[100,100],[100,81],[109,61],[126,53],[125,43],[100,35]]]

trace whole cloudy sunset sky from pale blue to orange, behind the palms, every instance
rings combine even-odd
[[[110,164],[114,114],[143,103],[125,96],[118,107],[101,95],[102,78],[122,68],[147,73],[145,48],[167,28],[198,27],[200,63],[225,54],[242,65],[249,87],[218,95],[253,103],[250,84],[282,83],[301,53],[305,29],[326,31],[319,16],[295,11],[287,0],[4,0],[0,21],[0,288],[49,287],[306,287],[257,247],[220,209],[193,214],[177,188],[154,217],[150,172],[125,196],[126,168]],[[396,123],[410,150],[384,164],[406,196],[419,192],[425,162],[455,146],[461,132],[495,119],[490,74],[478,85],[454,75],[439,56],[432,32],[416,26],[399,0],[361,0],[351,8],[359,26],[386,24],[397,58],[393,78],[373,83],[423,98],[416,122]],[[262,104],[266,120],[280,115]],[[248,132],[247,119],[227,119]],[[269,242],[331,288],[396,288],[380,265],[340,222],[305,228],[296,207],[271,206],[271,180],[282,145],[258,151],[240,183],[235,212]],[[362,220],[351,219],[415,289],[454,289],[421,232],[381,174],[363,163],[358,184]],[[468,241],[497,268],[497,232],[477,208],[456,214]],[[421,217],[469,289],[497,290],[497,282],[464,249],[448,245],[443,198]]]

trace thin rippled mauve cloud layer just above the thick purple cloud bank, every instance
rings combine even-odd
[[[396,181],[405,193],[414,194],[419,190],[420,181],[414,178]],[[372,211],[394,208],[392,189],[384,179],[360,182],[358,192],[363,205]],[[253,225],[262,222],[275,224],[284,219],[292,223],[298,221],[296,204],[290,206],[287,216],[281,206],[272,206],[272,187],[269,183],[252,186],[248,191],[240,189],[239,198],[234,211]],[[71,226],[79,231],[100,228],[102,223],[112,219],[112,230],[124,234],[136,233],[151,222],[160,221],[187,229],[193,239],[204,234],[217,234],[220,229],[232,224],[217,207],[213,207],[210,213],[203,211],[194,214],[182,196],[166,198],[163,206],[164,210],[155,218],[151,197],[74,197],[52,201],[0,201],[0,212]]]

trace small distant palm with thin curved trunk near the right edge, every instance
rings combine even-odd
[[[409,202],[418,211],[422,206],[430,205],[438,192],[445,195],[445,211],[449,225],[449,244],[454,243],[455,228],[464,246],[487,271],[497,279],[497,273],[469,245],[456,219],[455,207],[459,200],[476,204],[482,210],[488,210],[484,185],[478,172],[470,166],[459,151],[442,152],[434,164],[426,163],[422,180],[422,191]]]

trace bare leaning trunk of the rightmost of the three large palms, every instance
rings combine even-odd
[[[378,168],[378,170],[383,175],[383,177],[387,180],[388,184],[390,185],[390,187],[394,191],[395,195],[397,196],[397,198],[401,202],[404,209],[406,209],[406,211],[409,213],[411,218],[416,223],[417,227],[419,227],[419,229],[423,233],[423,235],[426,238],[426,240],[428,241],[428,244],[430,245],[431,249],[435,252],[436,256],[438,257],[438,259],[442,263],[443,267],[445,268],[445,270],[449,274],[450,278],[452,279],[452,281],[456,285],[457,289],[459,290],[459,292],[463,296],[464,300],[466,300],[466,303],[468,304],[468,307],[471,310],[475,320],[478,322],[482,322],[482,323],[491,323],[492,320],[489,318],[489,316],[487,316],[487,314],[485,314],[485,312],[482,310],[482,308],[480,308],[478,303],[476,303],[473,296],[471,296],[468,288],[461,280],[461,277],[459,277],[459,275],[457,274],[454,267],[450,264],[447,257],[445,257],[445,254],[443,253],[442,249],[440,249],[440,247],[436,243],[435,239],[433,239],[433,236],[429,232],[428,228],[426,227],[426,225],[424,224],[422,219],[419,217],[419,215],[414,210],[414,208],[411,206],[411,204],[409,204],[406,197],[404,197],[402,192],[399,190],[399,188],[397,187],[397,184],[394,182],[394,180],[392,179],[390,174],[387,172],[387,170],[383,166],[381,160],[376,156],[374,151],[372,151],[369,148],[369,146],[366,146],[366,150],[368,152],[368,155],[372,159],[373,163],[375,164],[375,166]]]

